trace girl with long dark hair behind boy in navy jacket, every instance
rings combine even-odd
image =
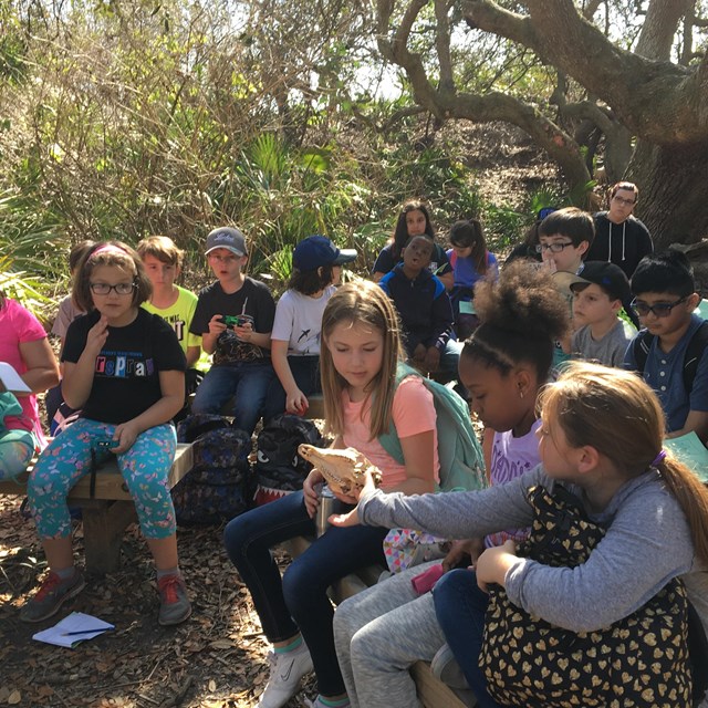
[[[382,249],[372,269],[374,282],[377,283],[394,269],[396,263],[400,262],[403,249],[406,247],[408,239],[414,236],[426,236],[433,243],[433,256],[428,270],[442,281],[446,290],[450,290],[455,281],[452,267],[448,262],[445,249],[435,242],[435,229],[430,220],[430,210],[419,199],[408,199],[403,205],[394,235],[391,241]]]

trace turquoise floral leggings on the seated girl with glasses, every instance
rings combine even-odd
[[[71,534],[66,496],[91,472],[92,446],[97,440],[112,438],[115,428],[108,423],[80,418],[42,452],[28,482],[28,497],[40,538],[62,539]],[[165,539],[175,533],[175,507],[167,478],[176,446],[175,428],[164,424],[140,433],[131,449],[117,456],[118,469],[147,539]],[[94,450],[97,462],[112,455],[105,449],[94,447]]]

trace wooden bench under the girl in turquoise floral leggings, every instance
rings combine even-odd
[[[0,494],[25,494],[27,479],[34,461],[17,480],[0,481]],[[169,470],[170,489],[191,469],[191,445],[177,445]],[[116,571],[121,565],[123,533],[129,523],[137,520],[133,499],[118,471],[116,458],[111,456],[98,467],[93,498],[91,476],[87,475],[71,490],[69,502],[81,508],[86,570],[95,574]]]

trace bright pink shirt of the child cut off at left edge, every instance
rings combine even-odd
[[[18,374],[27,372],[27,365],[20,354],[20,344],[46,339],[44,327],[39,320],[20,303],[4,299],[0,308],[0,362],[11,364]],[[24,416],[7,417],[6,425],[10,429],[23,429],[34,433],[42,447],[46,439],[42,433],[40,415],[37,408],[37,396],[18,396]]]

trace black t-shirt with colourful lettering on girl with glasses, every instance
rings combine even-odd
[[[69,325],[62,361],[79,361],[88,330],[100,317],[94,311]],[[131,420],[163,397],[159,372],[185,368],[185,354],[173,329],[159,315],[139,308],[131,324],[108,327],[82,417],[114,425]]]

